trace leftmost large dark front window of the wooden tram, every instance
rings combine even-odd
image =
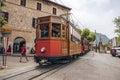
[[[40,35],[41,38],[46,38],[49,36],[49,24],[40,25]]]

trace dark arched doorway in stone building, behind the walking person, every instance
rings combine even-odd
[[[20,53],[21,47],[23,46],[23,44],[26,44],[26,41],[24,38],[22,37],[15,38],[13,43],[13,53]]]

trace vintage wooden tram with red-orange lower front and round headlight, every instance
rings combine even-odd
[[[89,42],[63,17],[38,18],[34,60],[42,64],[57,60],[71,60],[89,51]]]

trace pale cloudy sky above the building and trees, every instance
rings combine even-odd
[[[70,7],[72,18],[81,29],[116,36],[114,19],[120,16],[120,0],[52,0]]]

